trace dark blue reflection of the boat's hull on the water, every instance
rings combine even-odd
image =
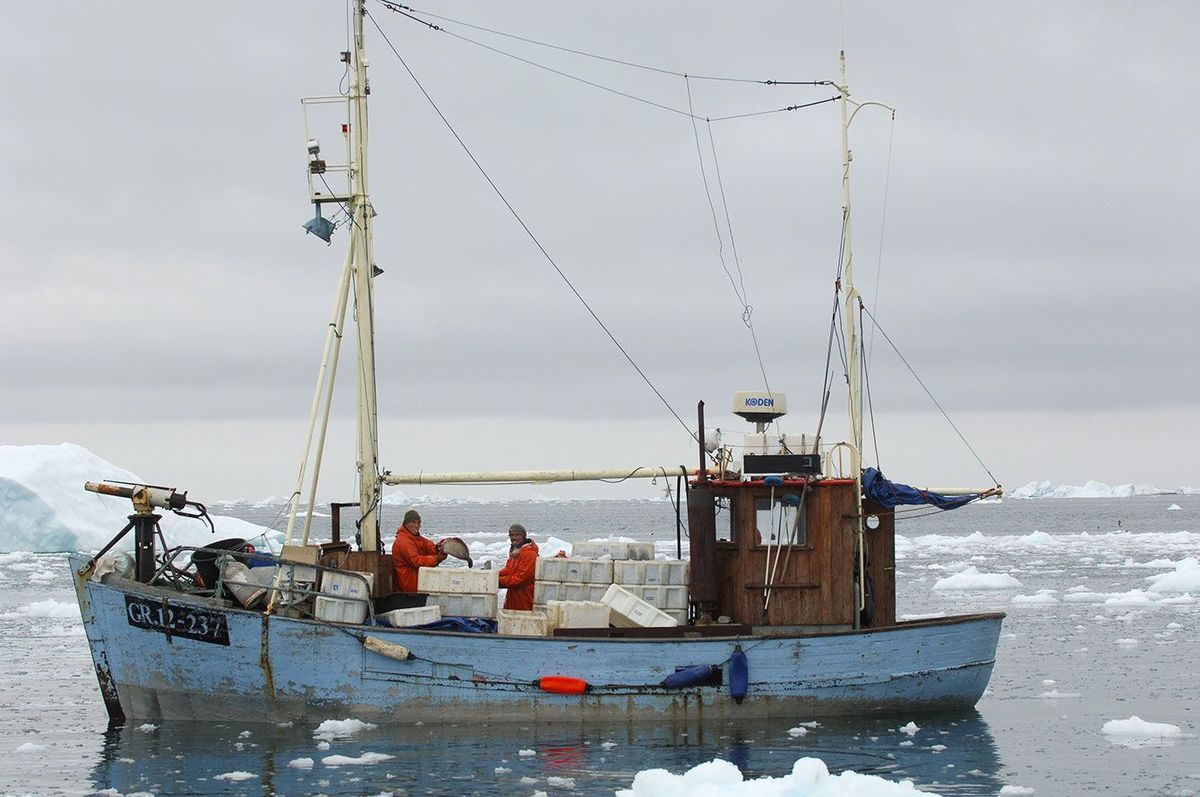
[[[906,723],[821,720],[803,735],[793,730],[798,723],[786,721],[397,725],[334,739],[328,749],[311,726],[131,724],[106,733],[91,786],[121,795],[612,795],[653,767],[679,773],[721,757],[746,778],[761,778],[786,774],[797,759],[815,756],[833,772],[908,779],[943,795],[1000,790],[996,744],[978,714],[919,719],[912,737],[899,730]],[[365,754],[390,757],[326,761]]]

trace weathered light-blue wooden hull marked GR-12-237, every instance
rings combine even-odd
[[[85,559],[73,558],[78,571]],[[76,580],[110,713],[131,719],[374,723],[804,718],[961,711],[991,676],[1003,615],[971,615],[820,635],[696,639],[521,637],[334,625],[265,616],[130,581]],[[220,615],[228,645],[139,627],[130,598]],[[397,660],[364,646],[394,642]],[[749,694],[728,690],[740,645]],[[666,689],[677,667],[712,664],[722,685]],[[583,695],[542,691],[571,676]]]

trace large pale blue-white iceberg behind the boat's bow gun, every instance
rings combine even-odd
[[[128,522],[128,501],[85,492],[85,481],[145,484],[82,445],[0,445],[0,551],[53,553],[95,551]],[[160,526],[174,545],[222,538],[257,540],[282,535],[236,517],[212,515],[216,533],[200,521],[162,513]],[[133,534],[118,545],[133,549]]]

